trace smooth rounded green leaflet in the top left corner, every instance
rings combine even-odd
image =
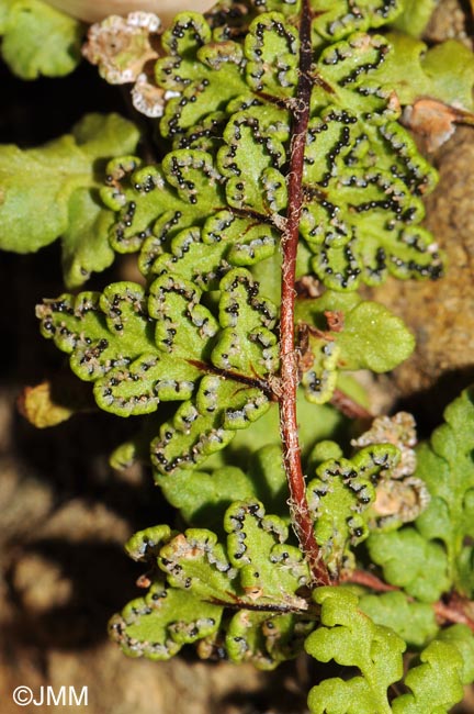
[[[72,71],[83,33],[81,22],[41,0],[0,0],[1,54],[22,79]]]

